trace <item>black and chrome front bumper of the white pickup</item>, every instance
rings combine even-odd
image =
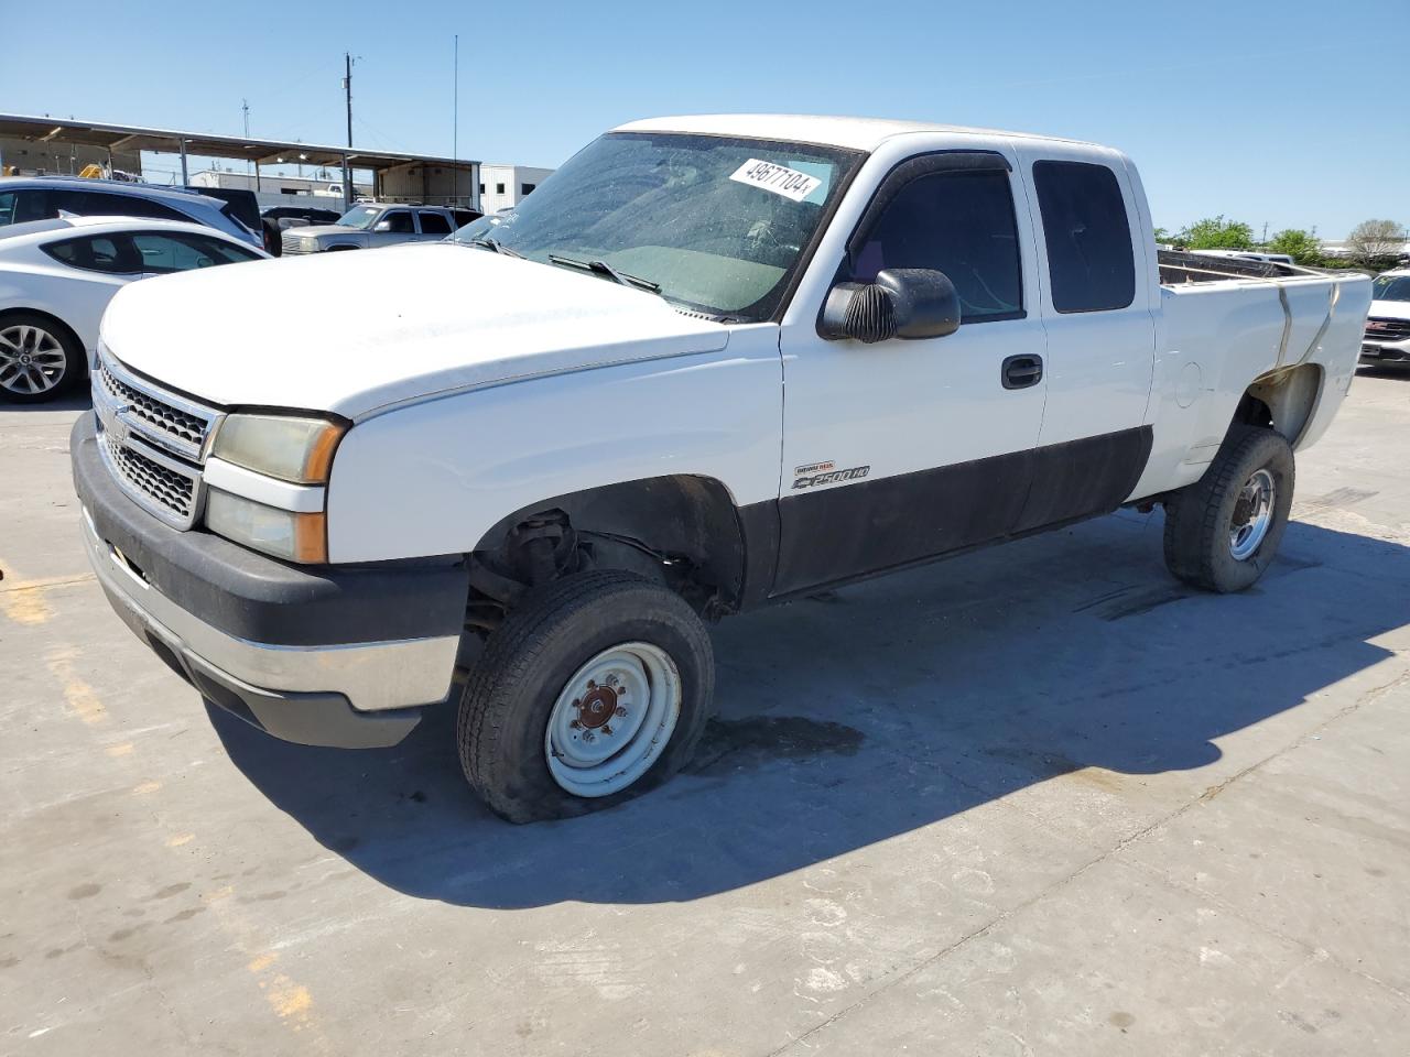
[[[70,437],[83,541],[124,623],[213,703],[300,744],[400,741],[450,692],[468,574],[454,557],[288,565],[128,499],[92,416]]]

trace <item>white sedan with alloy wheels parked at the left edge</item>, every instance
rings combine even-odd
[[[62,216],[0,228],[0,397],[51,400],[83,378],[103,310],[127,283],[268,256],[176,220]]]

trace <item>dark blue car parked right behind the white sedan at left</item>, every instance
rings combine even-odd
[[[176,187],[79,176],[0,178],[0,228],[59,213],[76,217],[147,217],[185,220],[223,231],[251,245],[262,240],[235,220],[230,204]]]

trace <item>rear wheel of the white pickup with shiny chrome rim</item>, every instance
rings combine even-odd
[[[1252,586],[1283,540],[1293,483],[1287,440],[1265,427],[1235,426],[1204,476],[1165,503],[1166,567],[1204,591],[1228,593]],[[1259,517],[1262,510],[1266,521]]]

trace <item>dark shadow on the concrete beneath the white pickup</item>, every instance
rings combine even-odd
[[[1410,623],[1407,558],[1294,523],[1253,591],[1208,596],[1166,575],[1159,514],[1121,513],[737,617],[715,631],[721,715],[689,772],[570,822],[491,816],[450,706],[362,753],[212,722],[278,808],[407,895],[698,899],[1045,782],[1089,779],[1093,824],[1134,832],[1245,765],[1190,774],[1220,764],[1218,738],[1299,707],[1287,730],[1310,730],[1330,715],[1311,695],[1390,657],[1372,640]],[[1038,810],[1084,824],[1091,796],[1049,788]]]

